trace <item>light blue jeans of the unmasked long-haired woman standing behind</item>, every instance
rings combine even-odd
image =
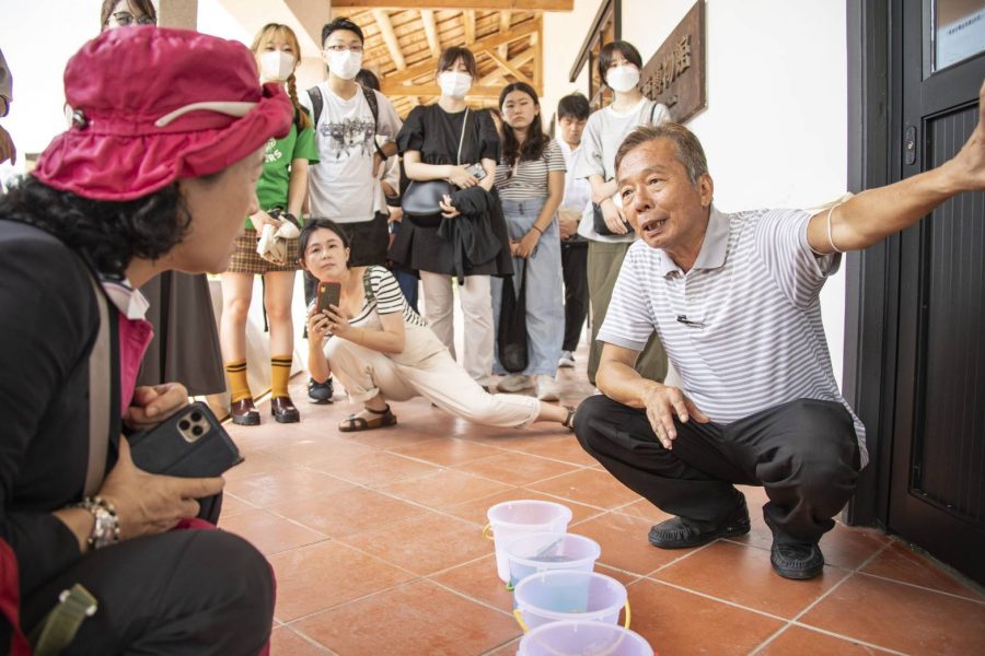
[[[521,239],[541,214],[546,198],[503,200],[502,213],[510,239]],[[523,258],[513,258],[513,291],[520,293]],[[561,284],[560,235],[557,221],[544,230],[541,241],[526,260],[526,339],[530,359],[525,375],[557,373],[561,341],[565,337],[565,292]],[[502,280],[493,279],[493,321],[499,330],[499,308],[502,303]],[[505,374],[499,364],[499,348],[494,350],[493,372]]]

